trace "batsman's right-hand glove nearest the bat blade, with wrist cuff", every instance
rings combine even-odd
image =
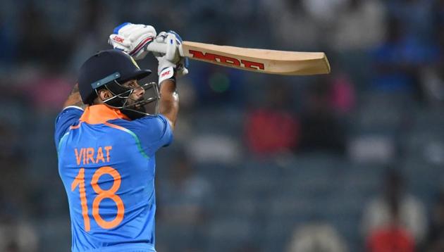
[[[180,56],[182,52],[182,39],[173,32],[160,32],[156,37],[156,42],[166,45],[166,53],[153,53],[159,61],[157,73],[159,74],[159,83],[163,80],[188,73],[188,58]]]

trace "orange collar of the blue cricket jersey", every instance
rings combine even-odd
[[[118,110],[118,108],[111,108],[105,104],[97,104],[85,108],[85,112],[83,112],[82,117],[80,117],[80,122],[99,124],[114,119],[130,120],[130,118]]]

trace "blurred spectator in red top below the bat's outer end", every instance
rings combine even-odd
[[[292,115],[290,89],[281,83],[273,84],[265,105],[247,114],[245,137],[249,151],[267,156],[295,149],[300,127]]]

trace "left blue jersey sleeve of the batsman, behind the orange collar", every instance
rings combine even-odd
[[[68,106],[58,114],[54,133],[54,141],[56,146],[58,146],[58,142],[60,141],[61,137],[68,132],[69,127],[77,122],[82,114],[82,108],[77,106]]]

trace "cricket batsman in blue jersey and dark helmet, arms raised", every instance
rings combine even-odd
[[[140,83],[150,70],[135,60],[163,43],[159,87]],[[173,139],[178,115],[175,77],[187,73],[175,32],[123,23],[114,49],[83,63],[78,84],[56,118],[58,172],[68,196],[72,251],[155,251],[155,153]],[[154,91],[148,96],[146,91]],[[159,104],[159,113],[147,107]]]

